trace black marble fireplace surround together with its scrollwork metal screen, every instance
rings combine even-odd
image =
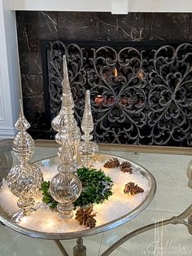
[[[24,113],[33,138],[54,137],[50,121],[59,111],[65,53],[76,118],[81,121],[89,89],[98,143],[191,146],[192,46],[181,45],[191,42],[190,14],[16,16]]]

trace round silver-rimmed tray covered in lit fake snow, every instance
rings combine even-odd
[[[130,221],[132,218],[135,218],[138,214],[142,213],[142,210],[145,210],[146,206],[149,205],[154,198],[156,191],[155,178],[148,170],[137,165],[133,161],[129,161],[133,167],[133,174],[123,173],[118,168],[104,168],[103,163],[108,161],[111,157],[116,156],[98,154],[96,157],[94,157],[94,168],[102,169],[105,174],[111,177],[114,183],[113,195],[109,198],[109,200],[105,201],[101,205],[94,205],[94,212],[97,213],[96,227],[89,229],[80,226],[75,220],[75,216],[72,218],[72,220],[64,223],[58,219],[57,221],[59,224],[54,224],[55,218],[57,218],[56,214],[55,212],[50,212],[49,210],[47,211],[47,214],[46,210],[44,210],[41,216],[41,223],[37,223],[36,226],[33,225],[33,222],[36,221],[36,213],[32,214],[34,216],[28,218],[25,223],[20,223],[20,225],[18,225],[11,221],[11,217],[2,207],[2,205],[0,205],[0,221],[16,232],[20,232],[27,236],[50,240],[64,240],[90,236],[99,232],[110,230],[111,228],[118,227],[121,224]],[[120,162],[128,161],[127,159],[121,157],[118,157],[118,159]],[[36,162],[36,164],[43,171],[45,180],[50,180],[51,177],[55,175],[56,166],[58,163],[57,157],[50,157]],[[144,192],[135,196],[124,194],[124,185],[131,181],[142,187]],[[54,216],[54,219],[50,219],[49,221],[51,228],[44,227],[45,225],[43,223],[47,223],[47,218],[52,218],[50,216]]]

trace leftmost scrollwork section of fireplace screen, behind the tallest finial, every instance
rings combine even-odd
[[[57,50],[55,50],[55,47]],[[59,47],[59,49],[58,49]],[[80,46],[71,44],[66,46],[63,42],[55,41],[50,44],[50,51],[48,54],[48,70],[49,70],[49,94],[50,94],[50,114],[54,118],[59,112],[61,104],[63,81],[63,54],[68,57],[68,73],[70,77],[70,84],[72,86],[72,95],[78,108],[78,95],[81,87],[85,86],[85,70],[84,70],[84,56]],[[76,112],[78,119],[81,117]]]

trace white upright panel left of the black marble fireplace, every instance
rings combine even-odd
[[[9,0],[0,0],[0,29],[0,138],[12,138],[21,93],[15,11]]]

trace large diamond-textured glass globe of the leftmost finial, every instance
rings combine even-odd
[[[30,197],[37,194],[41,188],[42,179],[43,174],[37,166],[28,163],[15,165],[7,175],[7,185],[15,196],[25,199],[26,204],[26,200],[32,201]],[[21,201],[18,202],[20,208]]]

